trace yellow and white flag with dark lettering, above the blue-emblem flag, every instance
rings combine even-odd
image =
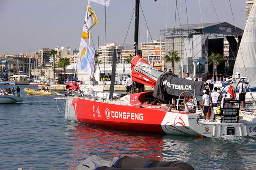
[[[98,19],[96,14],[94,13],[93,9],[90,5],[88,5],[88,8],[86,10],[86,15],[84,19],[84,27],[82,32],[82,38],[88,39],[89,38],[89,30],[98,23]]]

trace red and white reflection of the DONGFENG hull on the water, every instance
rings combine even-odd
[[[69,126],[69,128],[71,127]],[[172,157],[176,157],[175,160],[178,160],[185,155],[189,156],[182,150],[188,146],[187,142],[196,139],[189,138],[188,140],[188,137],[181,136],[114,131],[84,124],[73,126],[73,131],[69,135],[73,144],[70,156],[76,159],[77,164],[91,155],[99,155],[106,159],[114,156],[141,156],[159,161],[174,160]],[[74,166],[74,162],[68,164]]]

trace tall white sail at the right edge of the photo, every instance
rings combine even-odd
[[[239,72],[241,77],[250,80],[250,86],[256,87],[256,3],[248,17],[241,44],[233,69],[233,77]]]

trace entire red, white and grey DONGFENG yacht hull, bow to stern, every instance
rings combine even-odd
[[[221,137],[229,134],[256,135],[256,123],[204,122],[198,119],[197,114],[166,110],[166,107],[161,106],[120,105],[68,96],[65,119],[109,129],[168,135],[201,137]]]

